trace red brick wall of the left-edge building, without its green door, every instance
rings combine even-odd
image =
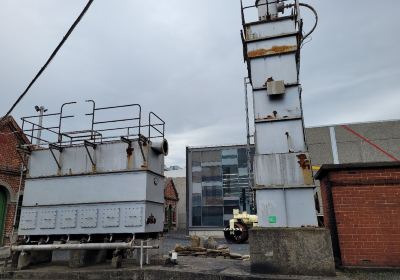
[[[7,123],[10,122],[7,121]],[[10,243],[20,184],[22,161],[16,149],[20,140],[13,131],[15,131],[15,128],[10,127],[9,124],[0,125],[0,187],[5,187],[8,193],[4,231],[2,233],[3,240],[0,240],[0,244]],[[1,184],[4,184],[4,186],[1,186]],[[22,184],[21,191],[23,191],[23,187]]]

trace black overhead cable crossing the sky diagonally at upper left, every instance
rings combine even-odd
[[[79,16],[76,18],[74,23],[71,25],[71,27],[68,29],[68,32],[64,35],[64,38],[61,40],[61,42],[57,45],[55,50],[52,52],[50,57],[47,59],[46,63],[43,65],[43,67],[39,70],[39,72],[36,74],[36,76],[33,78],[33,80],[29,83],[28,87],[22,92],[22,94],[18,97],[18,99],[14,102],[14,104],[11,106],[11,108],[8,110],[8,112],[1,118],[0,122],[3,121],[13,110],[14,108],[18,105],[18,103],[24,98],[24,96],[28,93],[29,89],[33,86],[33,84],[36,82],[36,80],[42,75],[44,70],[49,66],[50,62],[53,60],[53,58],[56,56],[58,51],[61,49],[61,47],[64,45],[64,43],[67,41],[69,35],[71,35],[72,31],[74,31],[75,27],[78,25],[78,23],[81,21],[87,10],[89,9],[90,5],[92,5],[93,0],[89,0],[88,3],[86,4],[85,8],[83,8],[82,12],[79,14]]]

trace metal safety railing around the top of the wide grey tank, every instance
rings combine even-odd
[[[165,138],[165,122],[154,112],[148,115],[148,123],[142,122],[142,107],[139,104],[126,104],[108,107],[96,107],[93,100],[86,100],[92,104],[90,113],[84,114],[91,117],[88,129],[77,131],[65,131],[63,121],[74,118],[74,115],[65,115],[64,108],[76,102],[62,104],[59,113],[41,114],[21,118],[22,131],[30,139],[30,146],[57,146],[66,147],[81,145],[86,142],[99,144],[115,141],[124,137],[125,139],[156,139]],[[128,116],[101,119],[100,117],[112,115],[112,110],[128,110]],[[57,125],[45,126],[43,122],[52,118]],[[145,135],[147,133],[147,135]],[[36,140],[36,144],[33,143]]]

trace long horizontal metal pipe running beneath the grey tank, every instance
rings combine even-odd
[[[120,243],[84,243],[84,244],[46,244],[46,245],[12,245],[11,251],[62,251],[62,250],[122,250],[122,249],[158,249],[159,246],[135,246],[133,242]]]

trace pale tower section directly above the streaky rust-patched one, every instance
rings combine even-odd
[[[257,154],[306,151],[300,119],[256,123]],[[286,135],[289,133],[289,137]]]

